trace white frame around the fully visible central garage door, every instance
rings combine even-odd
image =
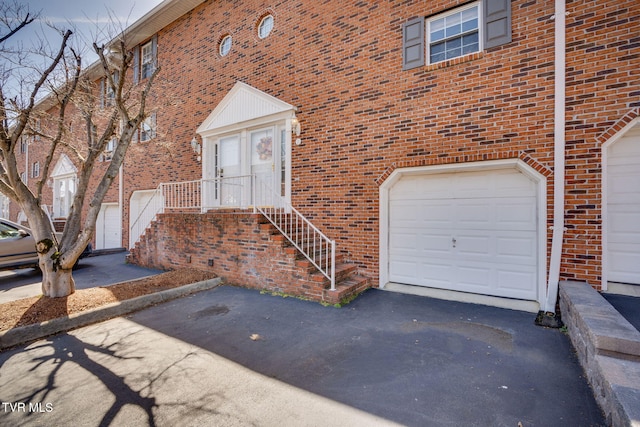
[[[455,172],[474,172],[474,171],[497,171],[501,169],[515,169],[536,184],[537,194],[537,300],[533,302],[514,300],[509,298],[492,297],[486,295],[467,294],[457,291],[433,289],[421,286],[404,286],[389,281],[389,230],[390,230],[390,192],[393,186],[404,176],[411,175],[427,175],[427,174],[443,174]],[[547,271],[547,254],[546,254],[546,229],[547,229],[547,179],[544,175],[527,165],[520,159],[504,159],[491,160],[482,162],[456,163],[447,165],[420,166],[411,168],[401,168],[394,170],[391,175],[380,186],[380,272],[379,287],[385,290],[398,290],[401,292],[418,293],[420,295],[429,295],[443,299],[451,299],[465,302],[475,302],[488,305],[497,305],[501,307],[514,308],[537,312],[540,304],[546,296],[546,271]]]

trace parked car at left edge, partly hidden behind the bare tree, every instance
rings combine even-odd
[[[91,254],[89,244],[80,258]],[[77,264],[76,264],[77,265]],[[36,242],[31,230],[6,219],[0,219],[0,270],[38,268]]]

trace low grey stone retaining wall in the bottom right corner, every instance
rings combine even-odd
[[[560,310],[607,424],[640,427],[640,332],[584,282],[560,283]]]

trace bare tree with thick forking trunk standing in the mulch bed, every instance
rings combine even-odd
[[[5,17],[0,18],[0,24],[4,24],[0,45],[34,19],[28,10],[17,6],[11,10],[13,16],[8,16],[8,8],[0,12]],[[20,66],[22,71],[33,67],[24,62],[20,49],[0,46],[5,64],[0,71],[0,191],[20,206],[29,221],[43,274],[42,292],[48,297],[74,292],[72,267],[92,239],[100,206],[133,136],[150,114],[147,99],[160,68],[155,67],[144,84],[133,84],[134,55],[124,34],[108,44],[94,42],[91,48],[99,59],[83,69],[82,58],[70,43],[72,32],[60,32],[57,50],[45,56],[46,67],[38,70],[32,80],[22,79],[32,82],[26,92],[22,88],[22,97],[8,95],[8,77],[20,72]],[[20,176],[16,150],[23,138],[33,137],[45,144],[46,158],[39,180],[27,186]],[[98,160],[114,138],[117,145],[111,162],[106,170],[99,170]],[[62,153],[79,168],[73,203],[59,238],[43,209],[42,194],[52,162]],[[89,188],[94,186],[95,191],[89,194]]]

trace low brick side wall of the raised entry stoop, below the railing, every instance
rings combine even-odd
[[[239,286],[323,300],[324,283],[296,263],[295,250],[273,230],[261,214],[162,214],[131,251],[130,261],[150,268],[211,270]]]

